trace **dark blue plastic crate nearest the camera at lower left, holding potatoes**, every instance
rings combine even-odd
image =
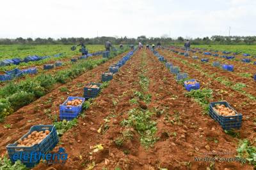
[[[40,162],[40,160],[35,160],[35,157],[33,156],[32,158],[31,156],[31,152],[37,152],[37,153],[49,153],[51,152],[51,150],[57,145],[57,143],[59,142],[58,139],[58,135],[56,132],[56,128],[54,125],[33,125],[29,132],[27,134],[25,134],[24,136],[22,136],[22,138],[20,139],[24,139],[27,138],[29,134],[31,134],[31,132],[33,131],[45,131],[45,130],[49,130],[50,133],[43,139],[43,141],[39,144],[33,145],[33,146],[26,146],[26,147],[20,147],[17,146],[18,142],[15,141],[15,143],[13,144],[9,144],[6,146],[6,150],[8,152],[8,155],[10,157],[10,160],[15,163],[15,159],[14,156],[15,155],[28,155],[28,159],[24,159],[24,157],[21,157],[21,162],[23,164],[26,165],[26,167],[34,167],[36,164],[38,164]],[[30,162],[30,159],[32,160]]]

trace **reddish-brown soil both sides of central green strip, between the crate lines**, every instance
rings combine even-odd
[[[209,162],[195,162],[194,157],[203,157],[201,153],[207,152],[205,145],[217,152],[235,152],[236,145],[232,138],[223,133],[218,125],[210,117],[202,114],[202,109],[197,103],[184,96],[184,88],[178,85],[174,76],[169,73],[161,62],[151,52],[147,52],[147,76],[150,79],[149,93],[152,94],[152,102],[149,109],[166,109],[163,115],[154,116],[157,122],[157,134],[159,141],[153,148],[145,150],[138,140],[138,134],[134,132],[134,139],[126,141],[118,147],[113,142],[124,127],[120,122],[127,117],[127,111],[132,108],[129,99],[132,97],[131,89],[139,89],[138,73],[140,63],[144,60],[140,51],[122,67],[122,73],[118,73],[109,87],[103,90],[93,106],[86,111],[86,118],[79,118],[79,125],[68,131],[61,138],[63,145],[70,155],[65,166],[54,165],[56,169],[84,169],[86,165],[95,162],[94,169],[206,169]],[[152,74],[154,73],[154,74]],[[128,89],[128,90],[127,90]],[[112,99],[109,99],[111,97]],[[113,105],[113,99],[118,99],[118,104]],[[120,102],[121,101],[121,102]],[[133,106],[134,108],[134,106]],[[175,113],[179,113],[179,120],[175,119]],[[104,124],[103,118],[109,115],[118,115],[110,118],[109,129],[105,134],[99,134],[97,129]],[[168,117],[168,118],[166,118]],[[170,120],[175,120],[174,124]],[[173,135],[173,132],[176,135]],[[217,139],[221,146],[214,143]],[[104,150],[93,153],[90,146],[102,144]],[[125,155],[124,150],[129,150]],[[81,155],[81,157],[80,157]],[[230,155],[233,156],[234,155]],[[109,160],[106,166],[104,159]],[[43,164],[36,169],[43,169]],[[216,169],[252,169],[250,166],[242,166],[239,163],[216,163]],[[85,168],[86,169],[86,168]]]

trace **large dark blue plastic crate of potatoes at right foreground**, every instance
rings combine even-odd
[[[216,106],[216,104],[224,104],[227,108],[234,110],[234,108],[232,108],[227,103],[227,101],[212,102],[212,103],[210,103],[210,111],[209,111],[210,116],[216,122],[218,122],[224,130],[240,129],[241,124],[242,124],[243,115],[241,113],[237,113],[237,111],[234,110],[236,113],[236,116],[223,117],[222,115],[219,115],[218,113],[216,113],[216,111],[214,111],[213,108]]]

